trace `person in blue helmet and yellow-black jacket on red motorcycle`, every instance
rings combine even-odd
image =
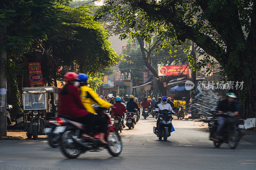
[[[86,74],[78,74],[78,78],[80,81],[80,99],[85,107],[85,109],[87,111],[90,112],[89,114],[89,119],[88,118],[82,118],[80,121],[82,122],[87,122],[88,123],[92,123],[92,127],[95,126],[100,126],[100,140],[103,143],[107,143],[106,140],[104,139],[105,136],[105,131],[107,128],[107,123],[105,122],[105,120],[100,117],[100,115],[95,115],[94,113],[96,113],[96,111],[94,110],[94,108],[92,107],[92,103],[95,103],[97,105],[99,105],[102,108],[110,108],[112,105],[110,103],[108,103],[107,101],[101,99],[97,93],[94,92],[93,89],[91,89],[89,86],[87,86],[87,79],[88,76]],[[103,96],[102,96],[103,98]]]

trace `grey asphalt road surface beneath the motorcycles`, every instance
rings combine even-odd
[[[156,119],[140,117],[135,128],[120,134],[122,153],[105,149],[67,159],[47,139],[1,140],[0,169],[256,169],[256,137],[244,136],[235,150],[215,148],[201,123],[173,119],[175,131],[167,141],[153,133]]]

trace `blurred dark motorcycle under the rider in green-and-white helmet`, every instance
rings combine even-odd
[[[208,122],[210,129],[209,139],[213,141],[215,147],[220,147],[222,143],[228,143],[230,149],[235,149],[238,142],[243,136],[244,129],[244,119],[234,118],[233,112],[224,113],[228,117],[225,127],[222,130],[222,136],[220,136],[220,141],[215,141],[214,134],[218,126],[218,118],[214,114],[212,118],[208,118],[205,122]]]

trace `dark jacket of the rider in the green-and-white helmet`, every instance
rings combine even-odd
[[[233,103],[228,104],[228,99],[221,100],[218,103],[217,111],[223,111],[223,112],[235,112],[238,111],[240,113],[241,111],[241,104],[237,101],[234,100]]]

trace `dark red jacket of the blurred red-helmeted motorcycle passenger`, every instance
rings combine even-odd
[[[76,86],[70,84],[66,85],[68,88],[68,94],[62,95],[59,93],[59,113],[70,117],[83,117],[89,112],[84,111],[84,105],[80,100],[80,94]]]

